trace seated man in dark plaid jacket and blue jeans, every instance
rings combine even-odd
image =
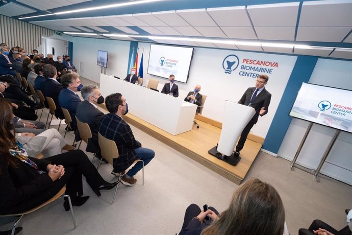
[[[99,133],[116,143],[119,157],[114,158],[112,174],[124,174],[136,159],[141,159],[146,166],[153,159],[155,153],[151,149],[142,148],[133,136],[131,127],[123,121],[122,116],[127,114],[129,106],[120,93],[113,93],[105,99],[105,104],[110,113],[104,115],[99,127]],[[142,169],[142,162],[138,161],[123,177],[121,182],[133,186],[137,180],[133,176]]]

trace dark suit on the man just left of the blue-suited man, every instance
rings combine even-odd
[[[59,104],[59,93],[63,89],[62,85],[53,79],[45,78],[41,83],[41,91],[45,97],[51,97],[56,105],[55,116],[59,119],[64,119],[64,114]],[[45,105],[47,105],[45,101]]]

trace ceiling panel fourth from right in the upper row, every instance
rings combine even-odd
[[[176,12],[191,26],[216,26],[216,23],[208,15],[206,9],[178,10]]]

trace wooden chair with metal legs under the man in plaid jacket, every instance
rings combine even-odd
[[[113,159],[118,158],[118,150],[116,143],[114,140],[105,138],[103,135],[98,133],[98,141],[99,141],[99,147],[100,150],[102,151],[102,159],[104,158],[107,160],[111,165],[113,165]],[[100,166],[100,163],[102,162],[102,159],[100,159],[99,165],[97,169]],[[133,163],[135,164],[136,162],[141,161],[142,162],[142,180],[143,180],[143,185],[144,185],[144,161],[142,159],[135,160]],[[120,172],[120,176],[118,177],[118,182],[121,181],[122,178],[122,172]],[[114,197],[112,198],[111,204],[114,203],[116,192],[117,192],[118,184],[116,185]]]

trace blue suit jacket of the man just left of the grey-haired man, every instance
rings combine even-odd
[[[81,98],[69,89],[63,89],[59,93],[59,104],[61,107],[68,110],[71,115],[71,128],[77,129],[76,110],[81,103]]]

